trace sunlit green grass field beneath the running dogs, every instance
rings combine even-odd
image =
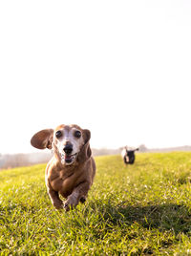
[[[0,172],[1,255],[191,255],[191,153],[98,157],[87,203],[68,213],[45,166]]]

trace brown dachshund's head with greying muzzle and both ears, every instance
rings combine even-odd
[[[49,148],[62,164],[71,165],[75,160],[83,162],[91,155],[89,130],[81,129],[78,125],[59,125],[54,130],[46,129],[36,133],[31,143],[38,149]]]

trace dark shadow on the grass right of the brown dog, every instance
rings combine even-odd
[[[174,203],[156,205],[127,205],[120,203],[113,206],[111,203],[93,203],[92,208],[97,208],[103,221],[110,224],[132,225],[140,224],[144,228],[157,228],[159,231],[173,230],[176,235],[191,231],[191,212],[184,206]]]

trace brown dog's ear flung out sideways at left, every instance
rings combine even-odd
[[[38,133],[34,134],[31,139],[31,144],[33,147],[38,149],[52,149],[52,142],[53,142],[53,129],[45,129],[39,131]]]

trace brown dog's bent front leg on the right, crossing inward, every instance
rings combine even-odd
[[[80,183],[74,188],[73,193],[67,198],[67,201],[64,203],[64,208],[66,211],[73,209],[79,201],[84,203],[86,201],[86,196],[88,190],[90,189],[90,183],[85,181]]]

